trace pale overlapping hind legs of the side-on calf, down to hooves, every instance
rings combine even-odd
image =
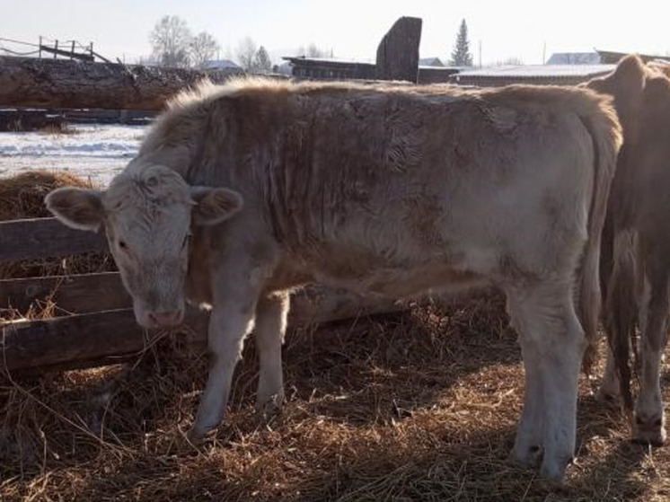
[[[542,476],[561,480],[575,452],[577,376],[586,347],[572,286],[548,281],[510,287],[506,293],[526,370],[524,410],[512,455],[527,463],[539,443]]]

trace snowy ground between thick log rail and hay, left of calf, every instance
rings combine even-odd
[[[105,185],[137,153],[145,126],[75,125],[74,134],[0,133],[0,177],[66,171]]]

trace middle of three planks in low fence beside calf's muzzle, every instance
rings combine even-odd
[[[47,299],[68,313],[94,313],[132,306],[118,272],[0,280],[0,308],[25,313],[34,302]]]

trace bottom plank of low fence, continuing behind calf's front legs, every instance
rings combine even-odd
[[[402,304],[390,300],[310,288],[292,298],[289,325],[295,328],[402,308]],[[190,311],[185,324],[190,327],[183,334],[187,343],[205,342],[207,314]],[[137,325],[132,309],[5,322],[0,367],[12,372],[40,373],[116,364],[142,351],[156,336]]]

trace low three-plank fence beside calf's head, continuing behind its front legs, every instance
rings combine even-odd
[[[107,251],[101,233],[72,230],[55,218],[0,223],[0,260],[34,260]],[[68,315],[43,320],[3,321],[0,367],[5,371],[45,372],[115,364],[140,353],[160,332],[137,325],[130,296],[118,272],[0,280],[0,308],[25,311],[49,300]],[[344,291],[308,288],[292,298],[289,326],[337,321],[397,311],[392,301],[364,298]],[[207,339],[207,314],[187,313],[187,343]],[[164,331],[163,331],[164,333]]]

